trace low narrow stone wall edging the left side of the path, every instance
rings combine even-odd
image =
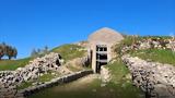
[[[18,98],[27,97],[27,96],[30,96],[34,93],[37,93],[44,88],[52,87],[52,86],[63,84],[63,83],[69,83],[69,82],[75,81],[80,77],[83,77],[83,76],[92,74],[92,73],[93,73],[92,70],[85,70],[85,71],[75,72],[73,74],[68,74],[62,77],[57,77],[57,78],[51,79],[50,82],[46,82],[45,84],[42,84],[38,86],[32,86],[32,87],[19,90],[16,97]]]

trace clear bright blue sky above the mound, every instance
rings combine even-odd
[[[0,42],[19,50],[84,40],[101,28],[125,34],[175,34],[175,0],[0,0]]]

